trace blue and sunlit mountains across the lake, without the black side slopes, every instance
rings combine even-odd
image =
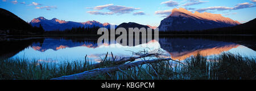
[[[46,31],[63,31],[65,29],[71,29],[73,27],[105,27],[110,28],[109,23],[100,23],[98,21],[86,21],[84,23],[77,23],[74,21],[65,21],[53,18],[51,20],[45,19],[43,17],[35,18],[31,20],[30,24],[34,27],[39,27],[41,24],[44,30]],[[220,14],[211,14],[209,12],[197,12],[192,13],[184,8],[174,8],[172,9],[171,15],[163,19],[159,25],[159,31],[168,32],[168,31],[200,31],[205,29],[213,28],[223,28],[223,27],[233,27],[239,25],[238,21],[234,21],[230,18],[225,18]],[[138,23],[122,23],[120,25],[115,25],[116,28],[152,28],[151,25],[142,25]]]

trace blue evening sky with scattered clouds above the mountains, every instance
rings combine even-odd
[[[210,12],[245,23],[256,18],[256,0],[1,0],[0,8],[30,22],[43,16],[65,21],[119,25],[135,22],[158,27],[173,8]]]

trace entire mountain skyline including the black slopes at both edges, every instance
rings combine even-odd
[[[105,27],[110,28],[109,23],[100,23],[98,21],[86,21],[84,23],[78,23],[75,21],[65,21],[53,18],[48,20],[44,17],[35,18],[26,23],[26,21],[20,19],[18,16],[14,15],[10,11],[7,11],[3,8],[0,8],[1,15],[1,27],[0,33],[7,34],[7,32],[18,33],[18,34],[34,34],[36,32],[43,33],[44,31],[64,31],[65,29],[71,29],[76,27]],[[230,18],[225,18],[220,14],[211,14],[208,12],[197,12],[194,13],[185,10],[184,8],[174,8],[172,13],[165,19],[160,22],[159,31],[160,32],[170,32],[170,31],[200,31],[200,30],[210,30],[210,31],[229,31],[233,33],[235,30],[237,33],[243,34],[244,31],[247,33],[255,34],[255,19],[247,23],[240,24],[238,21],[234,21]],[[40,27],[42,28],[36,28]],[[138,23],[122,23],[120,25],[114,25],[115,28],[124,27],[124,28],[152,28],[150,25],[142,25]],[[8,31],[9,30],[9,31]],[[248,31],[249,30],[249,31]],[[239,32],[240,31],[240,32]],[[237,34],[236,33],[236,34]],[[224,32],[225,34],[225,32]]]

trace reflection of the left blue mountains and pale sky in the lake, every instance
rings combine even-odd
[[[64,46],[64,47],[61,47]],[[60,48],[61,47],[61,48]],[[43,60],[84,60],[85,55],[94,62],[100,62],[99,58],[104,57],[107,52],[112,52],[117,57],[132,56],[131,51],[155,50],[160,45],[157,41],[137,46],[122,46],[120,44],[100,45],[95,42],[72,42],[69,40],[56,40],[46,38],[44,43],[34,43],[27,47],[13,58],[26,57],[28,59]]]

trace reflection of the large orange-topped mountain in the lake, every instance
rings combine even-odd
[[[159,43],[164,50],[171,54],[171,58],[175,60],[184,60],[197,53],[204,56],[220,54],[240,46],[232,42],[195,38],[162,38],[159,40]]]

